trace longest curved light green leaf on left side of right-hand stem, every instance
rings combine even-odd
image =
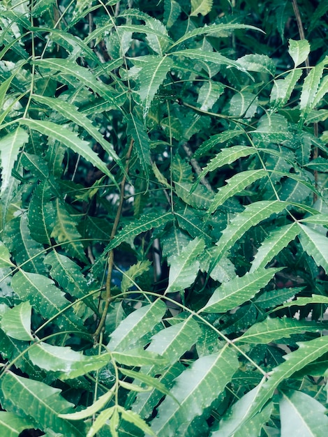
[[[244,211],[232,218],[227,228],[222,231],[221,238],[216,243],[217,255],[211,262],[212,267],[222,258],[225,251],[228,251],[244,235],[246,230],[269,218],[271,214],[283,211],[287,205],[279,200],[262,200],[262,202],[247,205]]]

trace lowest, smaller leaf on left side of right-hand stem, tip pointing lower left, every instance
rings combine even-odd
[[[278,255],[299,234],[297,223],[281,226],[270,232],[269,237],[264,239],[252,262],[250,272],[263,268],[274,256]]]

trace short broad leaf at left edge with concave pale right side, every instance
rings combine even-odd
[[[3,314],[0,325],[4,332],[13,339],[22,341],[31,341],[31,311],[32,307],[29,302],[8,309]]]

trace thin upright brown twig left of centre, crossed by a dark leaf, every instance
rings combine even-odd
[[[126,154],[126,169],[125,169],[126,171],[125,171],[125,174],[123,175],[123,178],[121,180],[121,192],[119,195],[119,206],[117,207],[117,213],[116,213],[116,216],[114,219],[112,232],[110,234],[111,240],[115,237],[115,235],[117,233],[117,228],[119,227],[119,221],[121,218],[121,212],[122,212],[123,202],[124,202],[124,188],[125,188],[125,184],[126,184],[126,175],[128,174],[128,167],[129,167],[129,163],[130,163],[132,149],[133,149],[133,140],[131,140],[130,146],[128,148],[128,152]],[[103,313],[101,315],[98,327],[96,329],[96,332],[94,333],[94,340],[95,341],[98,341],[99,336],[100,336],[100,332],[103,330],[103,327],[105,326],[106,316],[108,313],[108,309],[110,307],[110,302],[112,300],[112,292],[111,292],[111,284],[110,283],[112,281],[113,266],[114,266],[114,251],[110,251],[110,253],[108,254],[108,269],[107,269],[107,278],[106,278],[105,306],[104,306]]]

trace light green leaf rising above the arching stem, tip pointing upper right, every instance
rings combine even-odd
[[[214,290],[209,302],[202,308],[205,313],[225,313],[230,309],[244,304],[255,296],[261,288],[274,277],[276,269],[258,269],[254,273],[246,273],[244,276],[236,276],[228,282],[224,282]]]

